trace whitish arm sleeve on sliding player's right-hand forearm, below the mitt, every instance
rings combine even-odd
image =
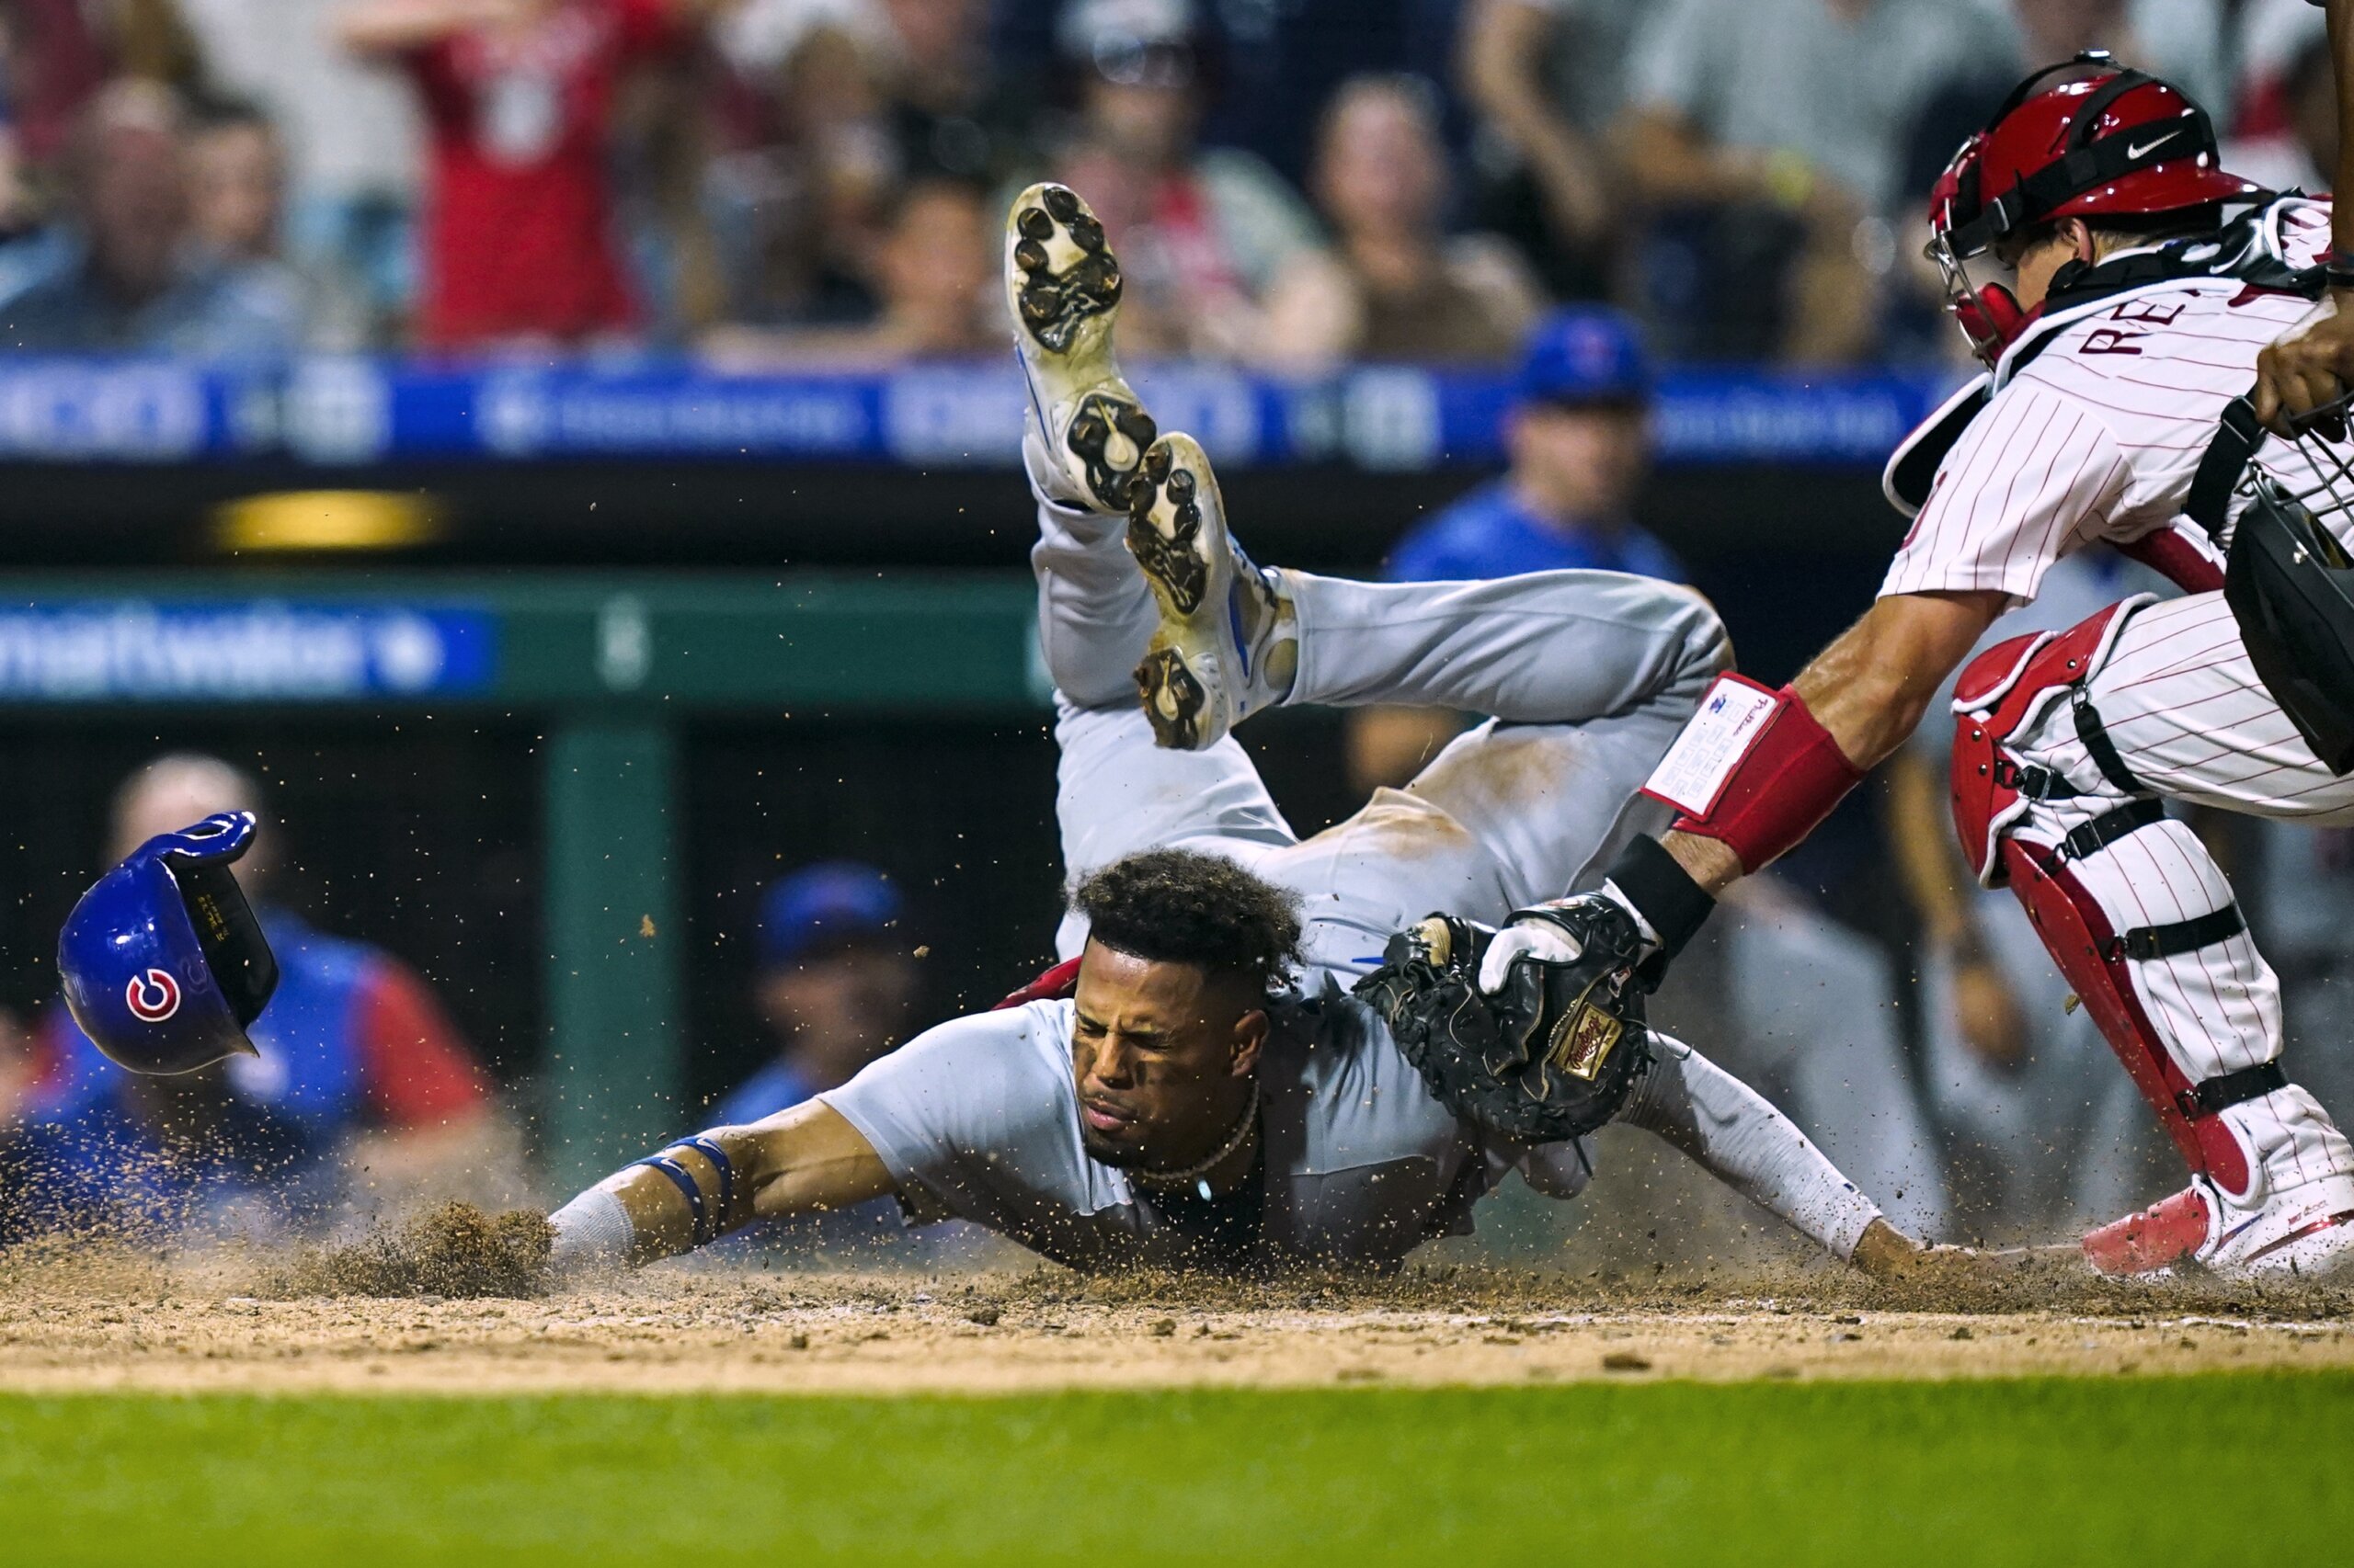
[[[1636,1081],[1617,1121],[1664,1137],[1718,1182],[1838,1257],[1853,1257],[1864,1229],[1881,1217],[1881,1205],[1838,1175],[1789,1116],[1664,1034],[1653,1036],[1653,1067]]]

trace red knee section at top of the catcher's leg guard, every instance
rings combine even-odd
[[[2003,829],[2027,815],[2041,779],[2003,753],[2003,742],[2100,669],[2126,612],[2149,593],[2109,605],[2067,631],[2034,631],[1970,659],[1954,683],[1954,831],[1970,871],[2003,883]]]

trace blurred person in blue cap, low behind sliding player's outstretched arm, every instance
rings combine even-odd
[[[713,1107],[751,1123],[847,1083],[897,1045],[916,1015],[916,961],[895,928],[904,899],[873,866],[831,859],[760,895],[753,982],[777,1055]]]

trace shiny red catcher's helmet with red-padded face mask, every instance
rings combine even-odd
[[[2043,85],[2064,71],[2076,75]],[[2215,125],[2180,87],[2088,49],[2013,87],[1987,129],[1961,144],[1928,198],[1928,254],[1963,334],[1991,363],[2032,315],[2008,290],[1973,290],[1961,266],[1970,257],[2053,219],[2147,217],[2260,193],[2217,167]]]

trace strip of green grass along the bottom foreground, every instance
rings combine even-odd
[[[2323,1563],[2354,1375],[0,1398],[7,1563]]]

